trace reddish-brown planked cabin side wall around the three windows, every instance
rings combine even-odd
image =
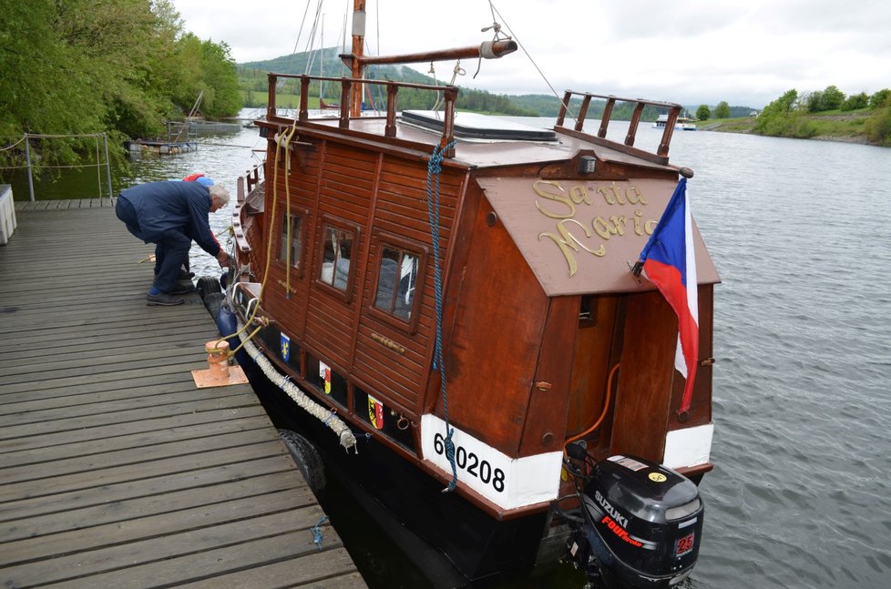
[[[435,273],[425,162],[371,148],[347,147],[309,133],[302,135],[301,141],[302,147],[290,157],[290,173],[284,168],[287,156],[280,155],[277,166],[271,164],[275,161],[274,145],[267,158],[264,217],[272,244],[263,308],[276,319],[276,327],[292,338],[295,349],[312,354],[354,387],[415,421],[421,412],[421,391],[428,378],[435,330]],[[463,170],[445,169],[440,177],[440,263],[444,268],[464,184]],[[286,277],[286,266],[279,255],[284,240],[286,188],[292,214],[304,218],[302,254],[290,277]],[[352,278],[345,292],[320,280],[326,225],[354,233]],[[421,282],[415,285],[420,300],[410,324],[374,309],[381,251],[384,244],[394,242],[417,253],[423,263]],[[256,246],[252,244],[252,248]],[[264,264],[265,243],[261,252]],[[258,252],[253,254],[256,258]],[[253,269],[258,279],[263,264],[255,264]],[[304,376],[310,381],[315,378],[313,374]],[[366,411],[353,406],[353,402],[340,402],[348,411]]]

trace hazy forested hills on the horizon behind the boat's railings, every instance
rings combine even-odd
[[[349,71],[338,57],[338,47],[328,47],[326,49],[309,52],[297,53],[291,56],[281,56],[265,61],[252,61],[238,64],[239,80],[241,82],[241,90],[244,97],[245,107],[264,107],[266,106],[267,96],[267,76],[268,72],[277,74],[309,74],[310,76],[349,76]],[[445,71],[448,71],[447,68]],[[451,72],[448,72],[449,78]],[[366,76],[379,80],[393,80],[395,82],[410,82],[414,84],[436,83],[433,77],[425,76],[415,69],[408,66],[372,66],[368,68]],[[440,79],[439,85],[442,86],[445,81]],[[276,104],[283,107],[296,107],[296,98],[293,91],[290,95],[282,92],[276,97]],[[324,99],[327,102],[336,101],[339,98],[340,90],[335,87],[326,86]],[[372,90],[374,96],[371,99],[376,104],[385,104],[386,96],[382,88],[374,88]],[[311,87],[311,96],[316,96],[314,106],[318,106],[319,88]],[[366,96],[366,101],[369,98]],[[401,109],[428,109],[433,107],[436,96],[432,92],[422,90],[402,89],[399,91],[399,107]],[[578,112],[581,100],[573,99],[570,103],[570,110]],[[588,118],[599,118],[603,114],[605,101],[591,101],[588,109]],[[470,110],[474,112],[490,113],[496,115],[509,115],[515,117],[557,117],[560,110],[560,100],[556,96],[548,96],[543,94],[509,96],[495,95],[485,90],[475,90],[466,87],[460,87],[460,94],[456,107],[459,110]],[[695,112],[696,107],[687,107],[690,112]],[[740,110],[739,115],[747,116],[752,110],[747,107],[731,107],[731,111],[735,114]],[[744,111],[744,112],[743,112]],[[646,107],[643,110],[642,119],[645,121],[654,121],[664,109],[655,107]],[[617,120],[630,120],[632,107],[628,104],[619,104],[613,109],[612,118]]]

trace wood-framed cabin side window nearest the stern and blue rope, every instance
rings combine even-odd
[[[426,249],[393,235],[378,235],[377,281],[373,309],[378,317],[415,329],[424,284]]]

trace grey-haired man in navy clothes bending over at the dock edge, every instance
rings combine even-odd
[[[155,281],[148,290],[148,305],[179,305],[174,295],[191,291],[179,283],[181,266],[189,260],[196,243],[215,257],[220,266],[229,264],[229,254],[210,230],[208,215],[229,203],[229,192],[215,184],[198,182],[148,182],[127,188],[118,196],[115,212],[130,233],[155,244]]]

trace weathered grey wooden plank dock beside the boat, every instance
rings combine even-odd
[[[216,335],[198,295],[146,306],[152,246],[108,199],[16,212],[0,246],[0,585],[364,587],[249,385],[194,386]]]

